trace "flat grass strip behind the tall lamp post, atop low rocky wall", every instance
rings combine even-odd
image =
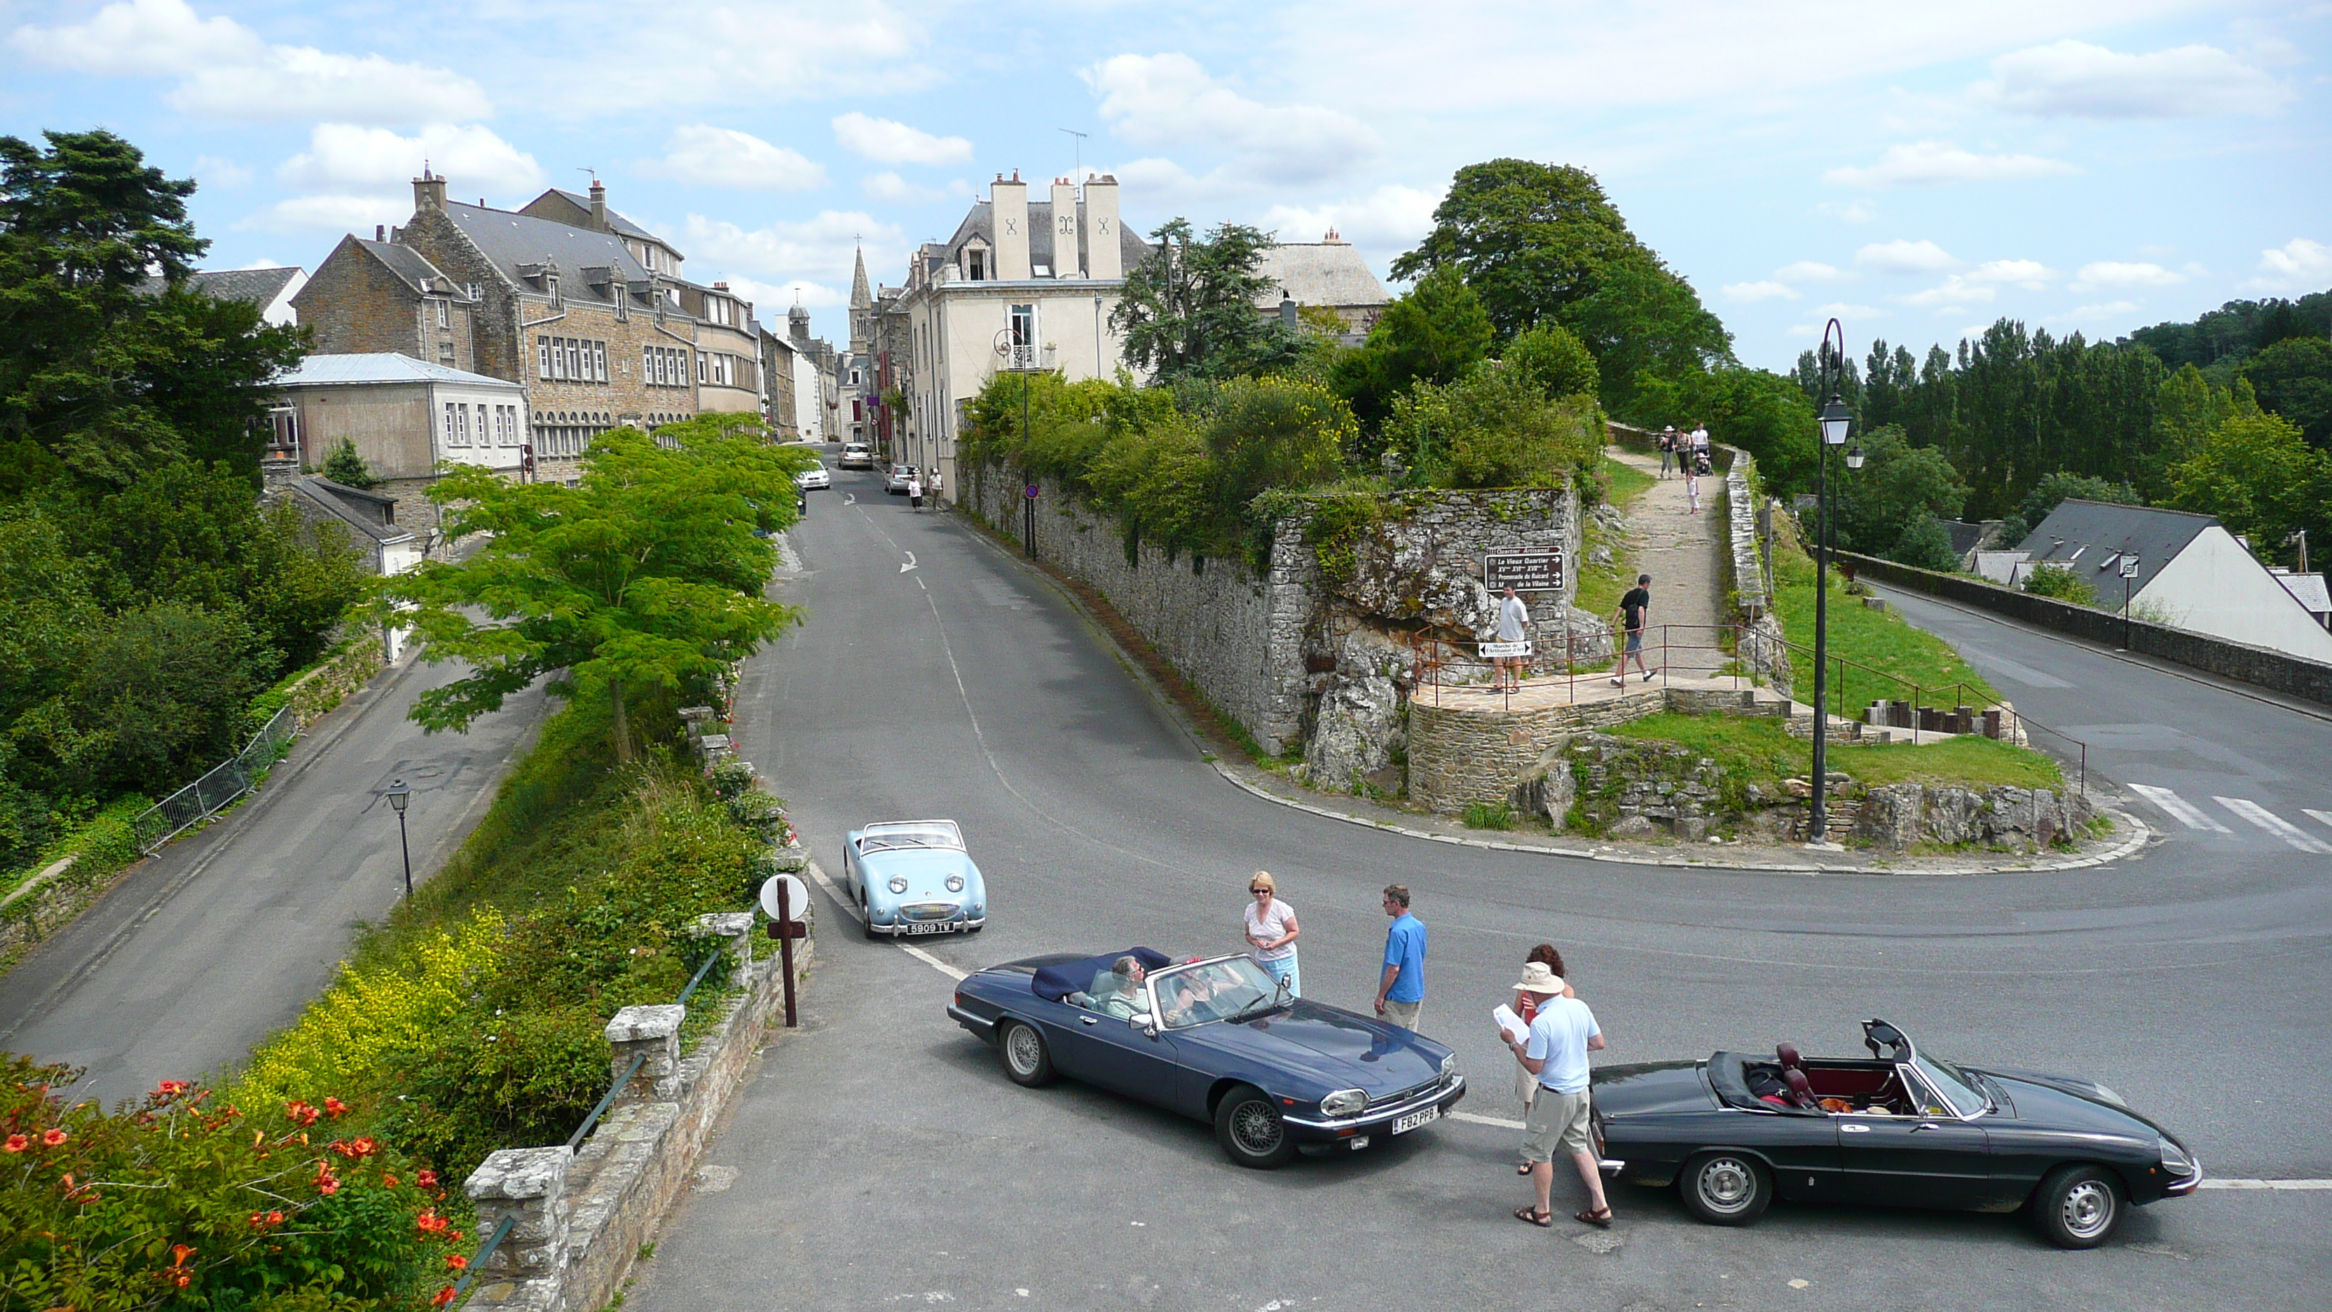
[[[1779,719],[1663,712],[1621,724],[1611,733],[1691,747],[1714,759],[1730,780],[1756,784],[1768,796],[1782,794],[1782,780],[1803,780],[1814,768],[1814,745],[1791,738]],[[1910,742],[1833,742],[1828,768],[1863,787],[1908,782],[1971,789],[2064,787],[2057,763],[2040,752],[1973,735],[1917,747]]]

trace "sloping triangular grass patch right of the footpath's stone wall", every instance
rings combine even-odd
[[[1814,644],[1814,560],[1796,542],[1789,518],[1775,516],[1772,539],[1775,609],[1782,630],[1791,642]],[[1917,684],[1922,705],[1966,705],[1982,710],[2001,703],[1999,689],[1985,682],[1950,642],[1910,626],[1891,607],[1880,612],[1847,595],[1838,570],[1831,570],[1831,635],[1833,658],[1852,665],[1831,665],[1831,712],[1854,719],[1875,700],[1910,700]],[[1791,651],[1796,670],[1796,693],[1805,700],[1814,691],[1810,651]],[[1866,668],[1856,668],[1866,665]]]

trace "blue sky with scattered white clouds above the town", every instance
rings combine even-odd
[[[194,177],[210,268],[315,268],[424,161],[506,208],[597,173],[837,339],[856,247],[900,282],[1077,168],[1385,275],[1453,170],[1574,163],[1770,369],[1833,315],[1924,353],[2332,287],[2332,0],[0,0],[0,133]]]

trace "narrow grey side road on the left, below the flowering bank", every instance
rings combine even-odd
[[[236,1065],[331,983],[357,922],[403,894],[396,815],[413,789],[413,878],[452,854],[541,721],[529,689],[469,733],[422,735],[415,698],[462,675],[408,663],[310,726],[257,796],[133,868],[0,978],[0,1048],[86,1067],[114,1104]]]

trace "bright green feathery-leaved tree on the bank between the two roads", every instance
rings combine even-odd
[[[413,719],[466,728],[553,675],[555,696],[604,700],[616,752],[632,759],[637,712],[702,696],[795,623],[795,607],[763,598],[777,553],[760,532],[793,523],[807,455],[746,434],[753,425],[700,416],[653,439],[613,430],[592,441],[576,488],[473,467],[441,479],[429,495],[448,507],[448,532],[492,537],[469,560],[380,588],[385,623],[408,623],[429,661],[471,665],[422,693]]]

